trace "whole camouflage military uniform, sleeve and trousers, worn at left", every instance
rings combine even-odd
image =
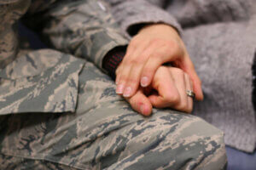
[[[53,49],[22,52],[21,15]],[[0,169],[223,169],[223,133],[196,116],[143,117],[102,58],[127,44],[90,0],[0,0]],[[76,57],[74,57],[76,56]]]

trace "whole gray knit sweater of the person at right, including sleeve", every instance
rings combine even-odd
[[[256,0],[108,0],[119,25],[132,36],[138,26],[163,22],[180,32],[205,99],[194,114],[224,130],[225,143],[253,152],[252,104],[256,51]]]

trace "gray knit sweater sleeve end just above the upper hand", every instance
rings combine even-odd
[[[130,36],[147,24],[165,23],[177,29],[182,34],[182,29],[177,20],[162,8],[167,1],[159,0],[149,3],[146,0],[108,0],[112,8],[113,17]]]

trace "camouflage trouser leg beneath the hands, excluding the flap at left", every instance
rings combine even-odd
[[[73,113],[0,116],[0,169],[224,169],[224,133],[196,116],[144,117],[87,62]]]

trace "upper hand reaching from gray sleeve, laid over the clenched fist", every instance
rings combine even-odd
[[[116,93],[131,97],[139,84],[147,87],[160,65],[172,62],[189,74],[195,88],[195,98],[203,99],[201,81],[177,31],[171,26],[156,24],[144,27],[131,39],[125,58],[116,71]]]

